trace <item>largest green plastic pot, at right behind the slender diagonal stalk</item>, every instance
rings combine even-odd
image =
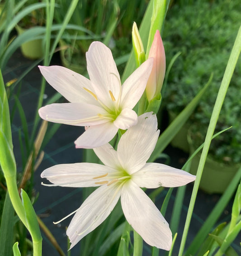
[[[188,131],[187,139],[190,147],[190,155],[192,155],[197,147],[194,146],[190,130]],[[198,153],[192,159],[190,169],[191,174],[197,174],[200,157],[201,153]],[[209,194],[224,193],[239,168],[240,164],[227,165],[222,162],[218,162],[208,154],[199,188]]]

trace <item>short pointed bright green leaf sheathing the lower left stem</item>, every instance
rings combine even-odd
[[[28,197],[28,194],[21,189],[22,203],[25,210],[25,217],[28,225],[28,230],[31,233],[33,241],[42,241],[38,220],[33,205]]]

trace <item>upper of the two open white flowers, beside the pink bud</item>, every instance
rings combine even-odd
[[[71,102],[40,108],[41,118],[90,126],[75,141],[76,148],[102,146],[113,139],[118,129],[136,125],[137,114],[132,108],[146,88],[153,63],[153,58],[148,59],[121,85],[112,53],[103,43],[91,43],[86,60],[90,80],[64,67],[39,66],[47,82]]]

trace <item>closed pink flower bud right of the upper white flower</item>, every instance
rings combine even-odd
[[[151,101],[161,92],[165,77],[165,49],[159,30],[156,30],[148,58],[154,58],[151,75],[146,84],[146,97]]]

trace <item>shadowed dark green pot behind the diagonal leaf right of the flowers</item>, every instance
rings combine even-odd
[[[170,123],[177,117],[177,114],[173,111],[168,111],[168,115]],[[179,130],[179,132],[175,135],[170,143],[173,147],[179,148],[180,150],[183,150],[187,153],[189,153],[189,143],[187,140],[189,126],[190,125],[188,123],[184,124],[184,126],[182,126],[182,128]]]

